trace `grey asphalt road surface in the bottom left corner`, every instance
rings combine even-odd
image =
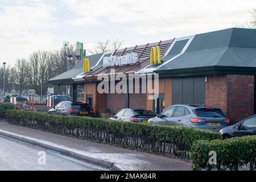
[[[0,135],[0,170],[108,170],[92,163]]]

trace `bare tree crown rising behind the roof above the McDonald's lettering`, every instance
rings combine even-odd
[[[110,52],[114,51],[115,49],[119,49],[122,46],[122,44],[123,41],[118,39],[112,42],[109,39],[106,39],[104,41],[98,40],[96,42],[96,46],[93,49],[88,49],[88,52],[91,54]]]

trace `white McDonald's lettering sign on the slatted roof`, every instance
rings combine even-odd
[[[131,52],[123,56],[110,56],[103,58],[103,67],[113,67],[118,65],[135,64],[138,62],[138,54]]]

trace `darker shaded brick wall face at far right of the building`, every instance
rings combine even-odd
[[[228,75],[228,117],[240,121],[254,112],[254,76]]]

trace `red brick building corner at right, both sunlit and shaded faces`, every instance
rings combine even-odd
[[[226,117],[238,122],[253,114],[254,76],[207,76],[205,105],[220,107]]]

